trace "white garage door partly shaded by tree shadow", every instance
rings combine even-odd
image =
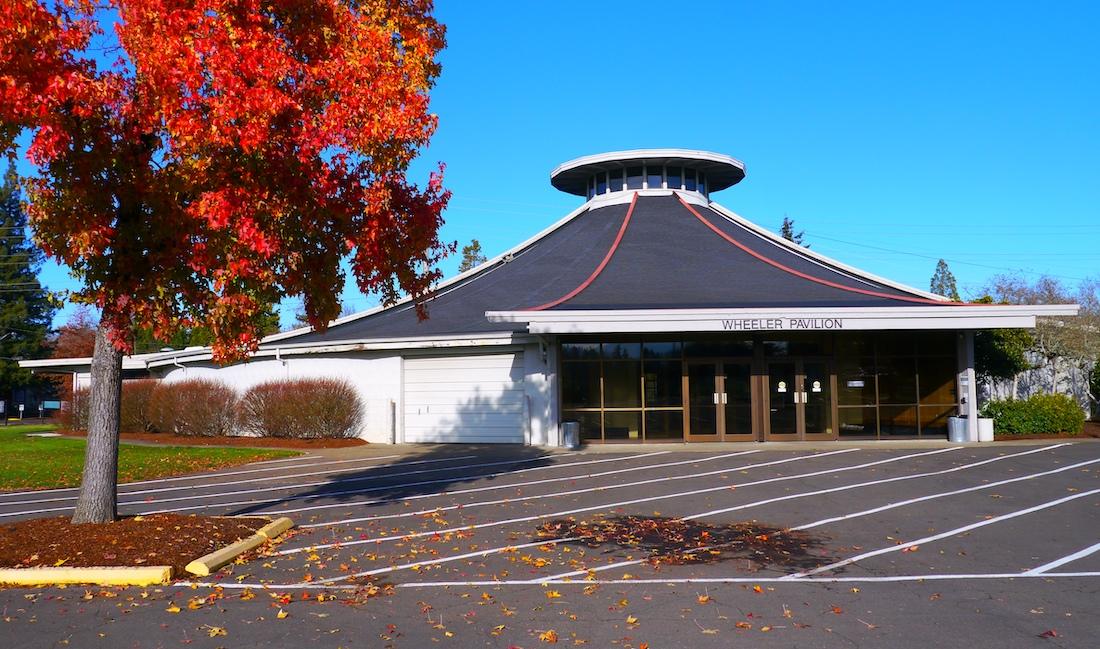
[[[522,443],[522,354],[405,360],[407,442]]]

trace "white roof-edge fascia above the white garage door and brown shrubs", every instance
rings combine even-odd
[[[522,345],[534,342],[534,337],[525,333],[486,333],[477,336],[450,336],[450,337],[420,337],[420,338],[394,338],[394,339],[363,339],[332,342],[312,342],[306,344],[287,344],[268,346],[256,350],[251,354],[251,359],[297,356],[304,354],[334,354],[348,352],[382,352],[382,351],[404,351],[425,349],[455,349],[455,348],[477,348],[477,346],[507,346]],[[196,351],[195,353],[162,359],[148,364],[150,367],[161,367],[166,365],[199,363],[212,361],[213,354],[209,349]]]

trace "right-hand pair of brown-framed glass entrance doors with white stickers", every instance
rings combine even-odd
[[[768,440],[836,439],[833,377],[826,361],[768,363]]]

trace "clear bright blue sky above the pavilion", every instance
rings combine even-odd
[[[414,176],[447,163],[446,240],[492,256],[580,205],[550,186],[559,163],[670,146],[745,162],[712,197],[727,208],[772,229],[788,215],[814,250],[919,288],[941,256],[964,297],[998,273],[1100,276],[1094,1],[438,0],[437,14],[440,128]],[[72,286],[57,268],[45,280]]]

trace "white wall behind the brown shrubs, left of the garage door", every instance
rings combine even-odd
[[[253,385],[282,378],[344,378],[358,391],[366,407],[360,437],[375,443],[388,443],[394,433],[393,409],[400,411],[400,356],[346,354],[341,356],[290,356],[282,361],[258,360],[220,367],[189,364],[168,367],[164,381],[213,378],[243,393]]]

